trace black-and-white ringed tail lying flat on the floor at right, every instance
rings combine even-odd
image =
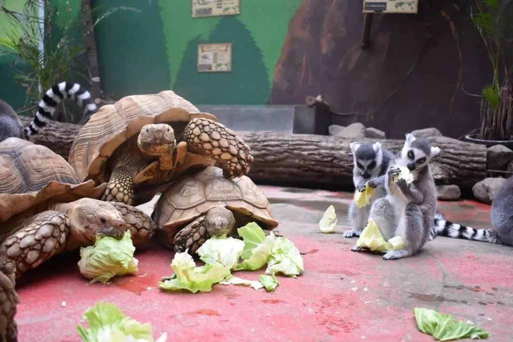
[[[497,233],[492,229],[475,229],[445,220],[441,214],[435,215],[435,227],[431,234],[447,236],[456,239],[502,243]]]

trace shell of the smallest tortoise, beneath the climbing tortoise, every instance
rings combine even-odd
[[[160,229],[175,234],[183,225],[217,206],[253,218],[267,229],[278,226],[269,201],[249,177],[229,180],[215,166],[184,177],[163,192],[155,207],[154,220]]]

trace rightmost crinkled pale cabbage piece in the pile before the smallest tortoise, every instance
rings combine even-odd
[[[292,241],[278,237],[274,240],[265,274],[278,274],[295,277],[304,270],[303,257]]]

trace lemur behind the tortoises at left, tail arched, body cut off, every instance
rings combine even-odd
[[[23,127],[12,107],[1,101],[0,141],[10,137],[28,139],[31,135],[37,134],[39,129],[44,127],[48,120],[52,119],[55,108],[63,99],[75,101],[84,109],[84,115],[87,119],[97,108],[86,88],[78,83],[61,82],[46,91],[37,106],[34,119],[29,125]]]

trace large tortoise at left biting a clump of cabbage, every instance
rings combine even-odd
[[[106,184],[80,182],[65,159],[27,140],[0,142],[0,178],[0,272],[13,281],[96,234],[121,239],[130,229],[139,243],[156,227],[135,207],[97,200]]]

